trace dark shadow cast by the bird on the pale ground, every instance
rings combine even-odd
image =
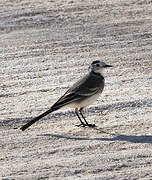
[[[149,143],[152,144],[152,136],[151,135],[124,135],[124,134],[113,134],[108,133],[106,131],[102,131],[100,129],[94,128],[95,130],[100,131],[101,133],[105,133],[111,135],[113,137],[99,137],[99,138],[88,138],[88,137],[77,137],[77,136],[70,136],[70,135],[59,135],[59,134],[41,134],[39,136],[47,136],[51,138],[57,139],[68,139],[68,140],[78,140],[78,141],[126,141],[131,143]]]

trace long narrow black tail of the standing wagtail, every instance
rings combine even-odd
[[[59,108],[51,108],[48,111],[40,114],[39,116],[37,116],[36,118],[32,119],[31,121],[29,121],[27,124],[25,124],[24,126],[21,127],[21,130],[24,131],[26,130],[28,127],[30,127],[32,124],[34,124],[36,121],[38,121],[39,119],[43,118],[44,116],[48,115],[49,113],[56,111]]]

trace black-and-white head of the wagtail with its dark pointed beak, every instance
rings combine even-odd
[[[108,65],[103,61],[93,61],[90,70],[94,73],[102,74],[103,70],[108,67],[113,67],[112,65]]]

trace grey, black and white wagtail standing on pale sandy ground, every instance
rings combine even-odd
[[[112,67],[102,61],[93,61],[89,67],[89,73],[76,82],[60,99],[53,104],[53,106],[46,112],[35,117],[27,124],[21,127],[21,130],[27,129],[33,123],[43,118],[47,114],[56,111],[62,107],[75,108],[75,113],[79,118],[81,124],[78,126],[94,127],[95,124],[89,124],[82,114],[83,108],[92,104],[99,97],[104,88],[104,77],[102,75],[103,69]],[[81,117],[80,117],[81,115]],[[84,121],[82,121],[82,119]]]

